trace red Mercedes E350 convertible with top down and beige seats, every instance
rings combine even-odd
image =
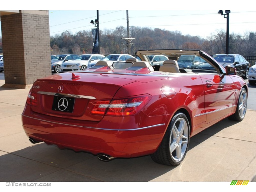
[[[99,61],[77,72],[36,80],[24,111],[30,142],[85,151],[102,161],[151,155],[179,165],[190,137],[225,119],[242,121],[248,87],[233,67],[201,50],[140,50],[141,61]],[[151,66],[147,55],[168,60]],[[179,69],[181,55],[213,68]]]

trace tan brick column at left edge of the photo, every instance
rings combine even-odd
[[[5,75],[2,87],[29,88],[36,79],[51,74],[48,11],[40,12],[44,15],[27,12],[1,16]]]

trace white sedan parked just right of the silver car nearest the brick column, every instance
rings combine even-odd
[[[62,63],[60,66],[61,71],[78,71],[84,70],[90,66],[91,63],[95,65],[99,60],[101,60],[104,55],[99,54],[83,54],[74,58],[71,61]]]

